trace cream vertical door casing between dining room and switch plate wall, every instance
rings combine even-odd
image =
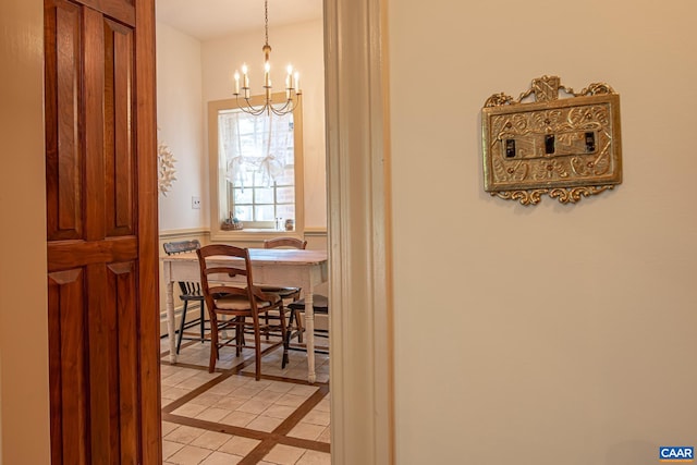
[[[387,0],[325,1],[334,465],[394,463]]]

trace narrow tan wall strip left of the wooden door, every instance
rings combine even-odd
[[[0,2],[0,464],[48,464],[42,1]]]

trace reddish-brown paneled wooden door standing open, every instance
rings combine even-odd
[[[45,0],[52,465],[159,464],[154,0]]]

